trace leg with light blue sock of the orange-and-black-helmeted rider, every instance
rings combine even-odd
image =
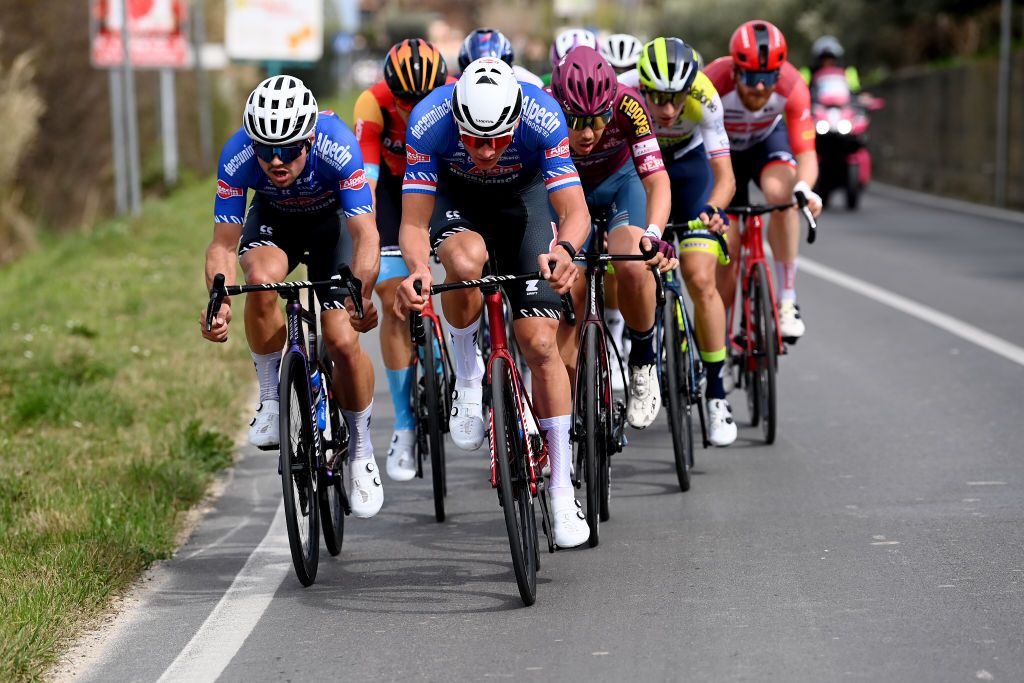
[[[398,247],[398,225],[401,219],[401,180],[381,170],[377,182],[377,230],[381,249]],[[394,432],[387,452],[387,473],[396,481],[416,476],[416,417],[413,415],[413,342],[409,325],[394,312],[394,296],[398,284],[409,275],[401,256],[381,256],[381,270],[374,291],[381,306],[381,356],[387,375],[391,405],[394,409]]]

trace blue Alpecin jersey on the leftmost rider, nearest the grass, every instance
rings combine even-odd
[[[321,112],[317,117],[316,138],[306,166],[288,187],[275,187],[270,182],[260,168],[245,129],[234,133],[220,153],[214,220],[242,223],[246,193],[250,188],[262,195],[274,209],[287,213],[336,211],[339,205],[348,217],[373,213],[373,197],[362,170],[359,144],[333,112]]]

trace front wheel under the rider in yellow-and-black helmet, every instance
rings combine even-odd
[[[693,425],[689,402],[690,360],[692,344],[687,341],[683,302],[675,291],[666,288],[662,324],[665,327],[665,375],[663,386],[669,394],[669,429],[672,432],[672,454],[676,461],[676,478],[680,490],[690,489],[690,468],[693,465]]]

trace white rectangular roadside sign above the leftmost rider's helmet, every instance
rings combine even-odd
[[[324,0],[226,0],[232,59],[316,61],[324,54]]]

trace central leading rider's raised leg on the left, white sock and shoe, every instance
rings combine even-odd
[[[472,280],[483,273],[487,248],[476,225],[444,188],[438,188],[430,220],[431,245],[444,266],[446,282]],[[452,440],[466,451],[483,442],[483,359],[477,344],[483,300],[478,290],[457,290],[441,295],[441,307],[449,323],[452,362],[455,366]]]

